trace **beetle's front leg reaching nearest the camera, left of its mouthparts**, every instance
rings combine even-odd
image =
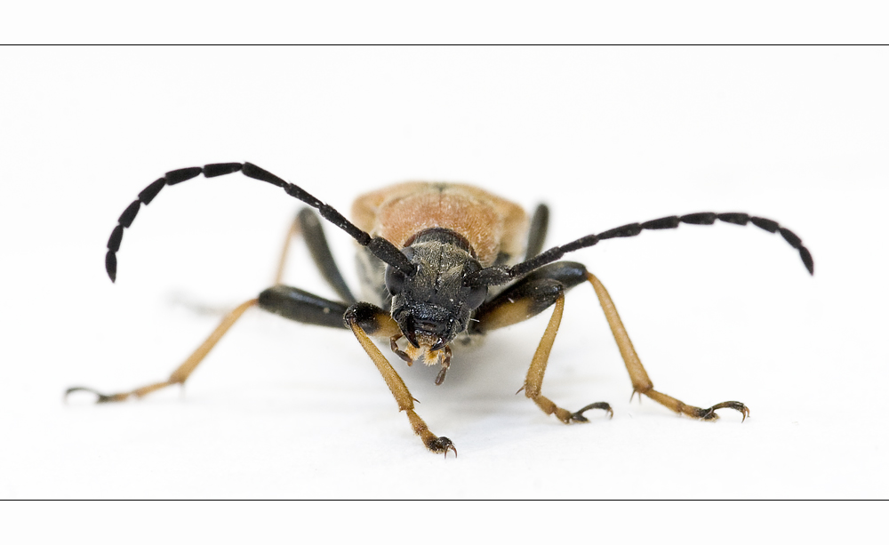
[[[392,392],[398,404],[398,410],[407,413],[413,432],[420,436],[423,445],[426,445],[426,448],[433,453],[444,453],[445,458],[448,451],[453,451],[456,456],[457,449],[454,447],[451,439],[437,437],[429,431],[426,422],[413,411],[411,392],[404,386],[404,381],[401,380],[396,370],[389,364],[388,359],[383,356],[380,349],[373,344],[373,341],[368,336],[391,338],[399,334],[400,330],[396,321],[385,310],[366,302],[359,302],[349,307],[344,319],[352,333],[355,334],[355,338],[361,344],[361,347],[371,357],[373,364],[377,366],[377,369],[383,376],[383,380],[386,381],[389,391]]]

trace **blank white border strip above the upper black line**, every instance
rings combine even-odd
[[[877,0],[116,0],[15,3],[26,44],[885,44]]]

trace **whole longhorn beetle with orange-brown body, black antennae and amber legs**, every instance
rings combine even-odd
[[[517,204],[479,188],[453,183],[407,182],[359,196],[352,207],[353,222],[299,186],[255,164],[222,163],[167,172],[142,190],[139,198],[121,214],[108,239],[105,267],[111,281],[116,278],[116,253],[124,229],[132,225],[141,206],[151,203],[164,186],[191,180],[200,174],[214,178],[238,171],[253,180],[282,188],[287,195],[310,207],[301,210],[293,222],[284,244],[276,284],[228,313],[210,337],[166,381],[112,395],[74,387],[68,389],[66,396],[84,390],[96,395],[98,403],[108,403],[183,384],[244,311],[258,306],[297,322],[351,330],[395,396],[398,410],[407,413],[414,433],[428,450],[445,453],[447,457],[448,451],[457,453],[452,441],[433,434],[414,412],[411,393],[371,337],[388,340],[389,348],[407,365],[415,361],[440,365],[436,384],[441,384],[451,365],[452,344],[469,345],[485,333],[524,321],[552,307],[549,324],[519,391],[524,389],[525,396],[544,413],[556,414],[565,424],[585,422],[586,411],[602,409],[613,414],[611,407],[599,402],[572,413],[542,396],[541,385],[549,350],[562,320],[565,292],[589,282],[627,365],[634,396],[645,395],[676,413],[705,421],[716,420],[717,409],[734,409],[744,421],[749,409],[741,402],[725,401],[701,409],[655,390],[605,286],[581,263],[562,261],[562,256],[605,240],[637,236],[644,230],[677,228],[681,223],[712,225],[721,220],[736,225],[752,223],[769,233],[780,233],[799,252],[809,274],[814,273],[812,254],[798,236],[777,221],[741,212],[698,212],[629,223],[541,252],[549,223],[549,210],[543,204],[529,221]],[[364,301],[357,301],[349,291],[327,246],[321,222],[312,209],[361,246],[358,268]],[[326,300],[279,283],[287,243],[297,233],[305,238],[317,267],[340,301]]]

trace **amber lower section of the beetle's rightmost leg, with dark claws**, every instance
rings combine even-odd
[[[597,277],[589,272],[587,273],[587,280],[593,285],[593,289],[596,290],[599,303],[605,311],[605,318],[608,320],[608,325],[611,327],[614,341],[617,341],[618,349],[621,350],[621,357],[623,357],[624,364],[627,365],[629,379],[633,382],[634,394],[638,393],[640,396],[645,395],[676,413],[685,414],[686,416],[705,421],[717,420],[717,418],[719,418],[719,415],[716,413],[717,409],[734,409],[741,413],[741,421],[747,419],[750,415],[750,410],[740,401],[725,401],[707,409],[701,409],[700,407],[695,407],[693,405],[685,405],[685,403],[679,401],[676,397],[670,397],[667,394],[662,394],[655,390],[653,382],[648,378],[648,373],[645,373],[645,367],[642,366],[642,362],[639,360],[636,349],[633,348],[632,341],[629,340],[627,330],[624,329],[621,317],[618,315],[617,309],[614,308],[614,303],[611,296],[608,295],[605,286],[599,282]]]

